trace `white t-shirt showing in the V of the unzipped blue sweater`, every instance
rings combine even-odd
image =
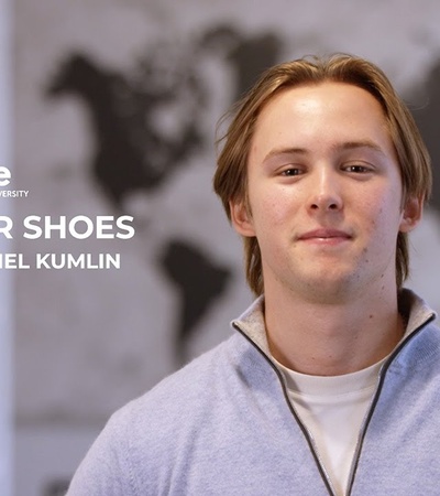
[[[345,494],[361,425],[384,362],[352,374],[322,377],[299,374],[275,360],[338,496]]]

